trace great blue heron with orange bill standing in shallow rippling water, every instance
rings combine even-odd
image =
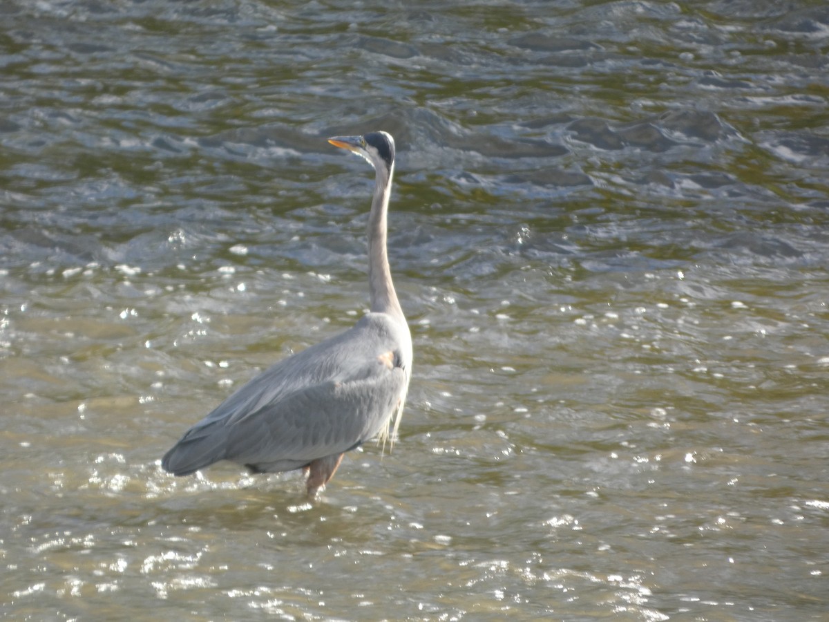
[[[219,460],[254,473],[304,469],[313,497],[345,452],[378,433],[384,445],[395,440],[412,368],[409,325],[385,248],[395,141],[371,132],[328,142],[366,158],[376,171],[367,228],[371,311],[345,333],[276,363],[216,406],[165,454],[162,467],[172,474],[191,474]]]

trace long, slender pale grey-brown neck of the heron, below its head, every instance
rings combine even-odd
[[[392,165],[388,177],[385,171],[378,170],[374,197],[371,199],[371,214],[368,218],[368,287],[371,294],[371,310],[378,313],[390,313],[404,318],[403,309],[397,300],[395,284],[391,282],[389,256],[386,253],[386,214],[389,211],[391,177],[395,168]]]

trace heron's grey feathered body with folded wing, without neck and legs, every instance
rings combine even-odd
[[[228,459],[283,471],[371,439],[408,386],[398,330],[370,313],[270,367],[188,430],[162,466],[184,475]]]

